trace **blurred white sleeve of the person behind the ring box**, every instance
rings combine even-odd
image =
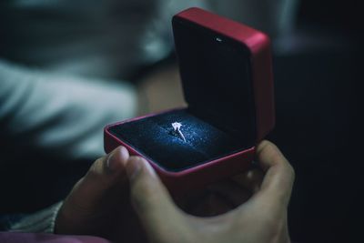
[[[134,116],[122,82],[45,73],[0,59],[0,134],[65,159],[104,154],[103,127]]]

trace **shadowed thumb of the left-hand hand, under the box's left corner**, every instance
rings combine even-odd
[[[60,208],[56,217],[57,233],[87,232],[93,223],[92,218],[100,217],[112,208],[120,194],[119,184],[126,184],[125,164],[128,157],[125,147],[117,147],[94,162]]]

